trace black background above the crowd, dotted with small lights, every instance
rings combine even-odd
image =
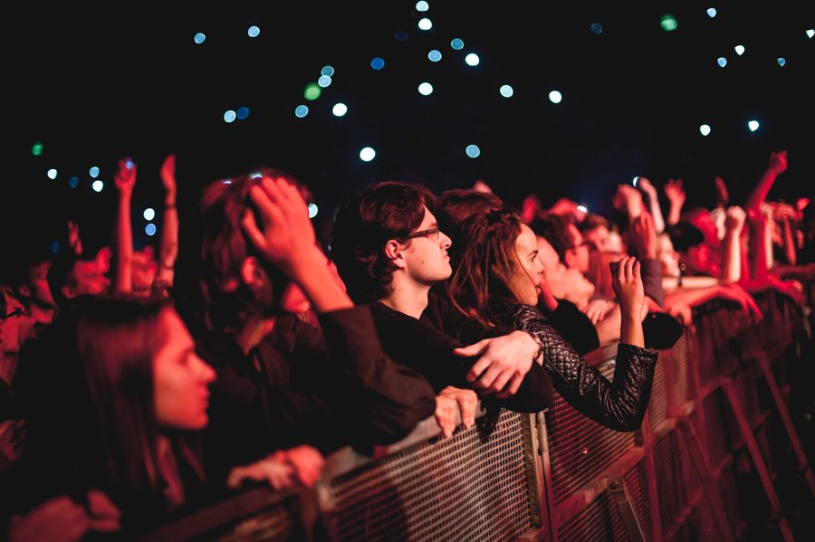
[[[2,38],[11,155],[0,192],[3,237],[47,246],[73,218],[87,250],[110,244],[112,174],[129,156],[139,167],[135,244],[155,242],[141,212],[160,208],[158,167],[170,152],[182,207],[206,183],[254,166],[291,173],[312,188],[324,241],[340,198],[386,178],[436,192],[483,179],[509,204],[534,192],[544,204],[567,196],[608,212],[616,185],[633,176],[657,187],[681,177],[688,204],[709,206],[720,175],[738,204],[782,148],[790,169],[770,199],[811,197],[812,5],[436,0],[424,14],[434,23],[429,32],[417,29],[415,2],[401,0],[187,12],[36,5],[10,13]],[[667,13],[678,22],[671,33],[659,25]],[[603,33],[591,33],[592,23]],[[261,29],[254,39],[251,24]],[[398,31],[408,39],[395,39]],[[197,32],[205,43],[194,43]],[[451,49],[454,37],[464,40],[462,51]],[[733,52],[739,43],[741,57]],[[427,60],[434,48],[441,62]],[[465,64],[468,52],[479,66]],[[370,69],[375,56],[384,70]],[[724,69],[719,56],[728,59]],[[304,100],[326,64],[336,70],[331,86]],[[432,95],[417,92],[421,81],[433,84]],[[504,83],[513,98],[500,96]],[[553,89],[563,94],[558,105],[547,98]],[[345,117],[331,115],[337,101],[348,105]],[[311,109],[304,119],[293,114],[299,104]],[[249,117],[225,123],[225,110],[241,106]],[[751,133],[748,119],[761,128]],[[713,128],[707,138],[702,123]],[[35,141],[42,156],[32,155]],[[480,157],[465,155],[469,144]],[[369,163],[359,158],[366,146],[377,150]],[[101,194],[90,187],[94,165],[106,183]],[[51,167],[55,180],[45,175]],[[78,187],[68,185],[71,176]]]

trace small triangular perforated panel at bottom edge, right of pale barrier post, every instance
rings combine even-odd
[[[603,491],[589,506],[570,518],[558,529],[561,542],[601,542],[629,540],[617,503],[608,491]]]

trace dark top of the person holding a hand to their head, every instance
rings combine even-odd
[[[434,414],[433,389],[382,351],[369,309],[322,314],[320,325],[280,317],[248,355],[229,335],[194,332],[217,372],[205,430],[211,477],[297,444],[366,451]]]

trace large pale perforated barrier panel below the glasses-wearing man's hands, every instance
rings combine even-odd
[[[503,411],[331,480],[337,540],[513,540],[532,528],[531,423]],[[533,485],[533,484],[532,484]]]

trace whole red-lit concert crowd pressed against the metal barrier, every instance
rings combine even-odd
[[[136,250],[124,158],[110,246],[88,253],[68,223],[62,252],[0,264],[0,528],[138,536],[247,485],[311,487],[325,455],[430,417],[449,437],[479,404],[535,413],[559,394],[635,431],[695,307],[804,303],[779,270],[815,261],[809,201],[768,200],[786,168],[773,152],[742,206],[717,177],[714,208],[685,208],[669,179],[665,213],[640,177],[613,216],[387,180],[340,204],[323,247],[308,185],[271,167],[210,181],[180,227],[169,156],[158,246]],[[584,356],[610,345],[607,378]]]

